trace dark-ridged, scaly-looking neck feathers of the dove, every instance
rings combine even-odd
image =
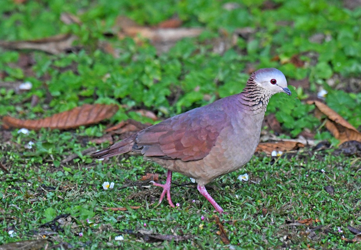
[[[255,73],[251,74],[245,88],[239,93],[239,106],[242,107],[246,113],[264,113],[271,95],[266,89],[258,86],[255,82],[254,75]]]

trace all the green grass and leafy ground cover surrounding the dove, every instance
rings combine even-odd
[[[78,36],[75,43],[82,49],[49,55],[0,48],[0,116],[37,119],[83,104],[114,103],[119,111],[110,122],[128,118],[153,122],[134,110],[147,109],[160,119],[167,118],[240,92],[250,68],[277,67],[289,83],[309,82],[306,88],[290,87],[292,97],[271,98],[267,114],[275,114],[281,136],[311,131],[317,140],[338,144],[314,117],[314,106],[304,102],[321,88],[328,91],[326,104],[361,128],[361,89],[355,84],[361,73],[360,7],[347,9],[336,0],[274,0],[271,4],[242,0],[232,10],[223,9],[228,1],[204,0],[5,2],[0,5],[0,40],[71,33]],[[60,19],[64,12],[79,17],[82,24],[66,25]],[[204,31],[197,38],[178,41],[169,52],[157,53],[146,40],[136,43],[104,35],[114,32],[119,15],[154,26],[174,14],[183,21],[182,27]],[[235,37],[224,53],[213,51],[218,40],[232,40],[231,35],[222,34],[244,27],[254,33]],[[119,57],[105,53],[99,41],[111,44]],[[30,66],[21,64],[24,56],[31,58]],[[304,66],[292,63],[294,57]],[[30,81],[33,87],[22,93],[1,87],[2,82],[17,81]],[[35,106],[31,106],[33,96],[39,98]],[[156,172],[164,182],[163,168],[134,156],[99,162],[82,155],[104,129],[104,124],[96,124],[61,132],[30,131],[29,135],[0,130],[0,162],[9,170],[0,170],[0,244],[45,238],[53,245],[68,242],[74,249],[360,248],[360,243],[342,240],[342,235],[353,238],[348,225],[361,228],[360,159],[356,155],[335,156],[332,150],[310,149],[276,160],[258,155],[240,170],[210,183],[210,194],[228,212],[221,221],[230,247],[217,234],[213,207],[188,178],[176,173],[173,177],[171,193],[179,207],[172,209],[166,201],[155,207],[151,204],[157,203],[160,188],[140,178]],[[35,144],[25,149],[29,141]],[[74,153],[77,158],[61,164]],[[237,177],[246,172],[252,181],[240,182]],[[103,190],[104,181],[113,181],[114,189]],[[323,189],[327,185],[335,188],[333,195]],[[141,208],[104,210],[129,206]],[[267,209],[265,216],[262,209]],[[42,226],[64,214],[70,214],[70,221]],[[309,228],[289,225],[308,218],[317,222]],[[322,227],[312,232],[318,226]],[[130,234],[141,229],[193,238],[152,241]],[[14,237],[8,234],[10,230],[16,232]],[[123,241],[115,241],[121,232],[128,233],[122,234]]]

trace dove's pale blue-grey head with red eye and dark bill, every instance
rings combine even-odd
[[[275,68],[265,68],[254,72],[251,75],[253,82],[258,87],[263,88],[269,94],[274,95],[278,92],[284,92],[291,95],[290,89],[287,88],[287,80],[281,71]]]

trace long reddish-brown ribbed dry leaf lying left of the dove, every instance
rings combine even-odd
[[[30,130],[39,130],[40,128],[66,130],[98,123],[101,120],[112,117],[117,111],[117,105],[85,104],[81,107],[39,120],[21,120],[6,116],[3,118],[3,126],[5,128],[27,128]]]

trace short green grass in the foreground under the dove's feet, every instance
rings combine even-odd
[[[12,162],[10,174],[0,177],[0,196],[3,221],[1,242],[34,239],[46,231],[41,225],[56,216],[70,214],[71,222],[55,223],[55,234],[45,236],[52,241],[69,242],[79,249],[144,249],[147,247],[173,249],[219,249],[225,247],[216,234],[218,227],[212,217],[213,207],[196,190],[189,178],[174,174],[171,189],[173,202],[180,206],[171,208],[166,201],[155,207],[161,189],[148,181],[140,181],[148,172],[159,173],[164,182],[165,170],[141,157],[112,158],[107,162],[92,161],[89,156],[77,158],[74,163],[54,167],[51,158],[56,149],[78,152],[83,149],[68,140],[67,133],[49,135],[48,152],[34,146],[31,150],[15,149],[15,145],[2,146],[5,158]],[[45,136],[46,135],[46,136]],[[48,137],[49,136],[49,137]],[[16,135],[16,141],[34,140],[33,135]],[[64,141],[62,141],[64,139]],[[44,140],[42,138],[37,139]],[[54,150],[54,151],[53,151]],[[26,153],[27,156],[24,156]],[[39,162],[39,154],[43,159]],[[30,156],[31,155],[31,156]],[[342,240],[353,238],[347,225],[360,227],[361,176],[355,172],[352,158],[336,157],[332,152],[312,153],[306,150],[290,159],[271,161],[264,155],[255,156],[243,168],[222,176],[209,185],[210,193],[228,214],[221,220],[236,249],[357,249],[357,245]],[[322,170],[326,172],[323,173]],[[237,176],[247,172],[248,182],[240,182]],[[104,181],[113,181],[114,189],[103,190]],[[122,186],[125,187],[122,187]],[[332,185],[333,195],[323,187]],[[49,190],[48,190],[49,189]],[[131,196],[131,198],[130,198]],[[192,200],[196,202],[192,202]],[[105,211],[104,207],[140,206],[129,211]],[[267,214],[262,215],[262,209]],[[201,216],[205,220],[201,220]],[[288,226],[297,219],[318,219],[312,227],[323,225],[308,238],[306,226]],[[87,219],[91,223],[87,222]],[[93,224],[94,223],[94,224]],[[144,223],[146,224],[144,226]],[[311,228],[312,228],[311,227]],[[344,233],[338,232],[340,227]],[[47,228],[47,227],[45,227]],[[16,232],[10,237],[7,230]],[[193,235],[188,241],[159,241],[150,243],[130,234],[122,234],[124,241],[115,241],[120,232],[150,230],[157,234]],[[47,229],[49,231],[50,229]],[[62,231],[64,230],[64,231]],[[50,230],[51,231],[51,230]],[[83,237],[79,237],[79,233]],[[287,237],[287,240],[284,238]],[[109,240],[110,238],[110,240]]]

